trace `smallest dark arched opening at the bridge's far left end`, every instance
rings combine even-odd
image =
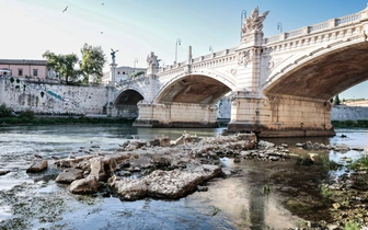
[[[137,103],[143,100],[143,96],[135,90],[122,92],[115,100],[115,113],[117,117],[137,118]]]

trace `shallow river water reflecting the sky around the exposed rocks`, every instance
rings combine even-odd
[[[197,136],[216,136],[217,129],[186,129]],[[233,163],[223,158],[223,166],[237,173],[227,179],[208,182],[208,192],[196,192],[177,200],[147,198],[122,202],[102,195],[81,196],[70,194],[66,185],[56,184],[60,172],[51,163],[44,173],[27,174],[34,154],[46,159],[51,156],[66,158],[80,147],[99,146],[101,151],[113,152],[127,139],[151,140],[156,136],[176,139],[184,129],[151,129],[129,125],[53,125],[53,126],[1,126],[0,170],[11,171],[0,176],[0,228],[8,229],[288,229],[295,228],[300,217],[318,218],[291,212],[284,208],[289,195],[281,191],[314,189],[318,193],[314,170],[296,166],[295,161],[258,162],[242,160]],[[342,138],[344,134],[347,137]],[[367,153],[368,129],[336,129],[332,138],[273,138],[277,145],[288,143],[290,152],[308,154],[295,148],[296,142],[346,143],[364,148],[364,151],[318,151],[340,161],[344,154],[357,159]],[[315,153],[315,151],[314,151]],[[50,161],[51,162],[51,161]],[[290,174],[291,172],[291,174]],[[286,179],[286,173],[290,179]],[[330,172],[340,174],[338,172]],[[313,177],[314,176],[314,177]],[[306,184],[298,184],[306,180]],[[292,182],[292,183],[291,183]],[[308,183],[307,183],[308,182]],[[262,188],[272,185],[265,196]],[[297,187],[297,188],[296,188]]]

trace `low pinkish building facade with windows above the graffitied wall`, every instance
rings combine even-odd
[[[0,59],[0,76],[15,78],[48,78],[46,60]]]

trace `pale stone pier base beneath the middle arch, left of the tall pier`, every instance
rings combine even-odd
[[[138,103],[137,127],[218,127],[217,107],[189,103]]]

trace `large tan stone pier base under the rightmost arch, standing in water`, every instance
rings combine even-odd
[[[289,95],[238,96],[231,106],[228,133],[254,131],[260,137],[335,135],[327,101]]]

